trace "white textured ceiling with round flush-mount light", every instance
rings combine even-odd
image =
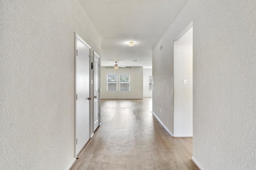
[[[188,0],[79,0],[100,37],[102,66],[152,67],[152,50]],[[129,47],[128,42],[134,41]],[[137,60],[137,62],[133,62]]]

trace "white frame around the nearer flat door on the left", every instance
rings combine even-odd
[[[74,100],[75,100],[75,138],[74,138],[74,144],[75,144],[75,158],[76,158],[76,156],[77,156],[77,154],[76,154],[76,138],[77,138],[77,136],[76,136],[76,111],[77,111],[77,108],[76,108],[76,61],[77,61],[77,59],[76,59],[76,57],[77,57],[77,39],[79,39],[84,45],[86,45],[86,47],[88,47],[89,48],[89,55],[90,55],[90,51],[91,51],[91,47],[90,47],[90,45],[88,45],[77,33],[75,33],[75,94],[74,94]],[[90,61],[89,61],[89,68],[90,68]],[[90,71],[89,71],[89,76],[90,76]],[[90,95],[90,91],[91,91],[91,89],[90,89],[90,79],[89,79],[89,95]],[[89,134],[90,134],[90,130],[91,130],[91,127],[90,127],[90,119],[91,119],[91,114],[90,114],[90,112],[91,112],[91,108],[90,108],[90,104],[89,104]],[[90,139],[90,136],[89,136],[89,139]],[[78,152],[79,153],[79,152]]]

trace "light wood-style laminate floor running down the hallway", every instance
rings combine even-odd
[[[192,138],[172,138],[152,98],[101,102],[102,125],[71,170],[197,170]]]

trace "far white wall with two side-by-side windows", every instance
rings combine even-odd
[[[107,91],[107,75],[117,74],[117,92]],[[130,92],[120,92],[120,74],[130,75]],[[114,68],[101,67],[101,98],[102,99],[143,99],[143,67]]]

